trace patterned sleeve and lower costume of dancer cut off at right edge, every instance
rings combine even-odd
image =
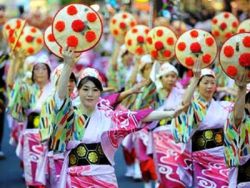
[[[237,128],[233,111],[225,123],[225,159],[230,169],[230,187],[250,186],[250,117],[245,114]]]

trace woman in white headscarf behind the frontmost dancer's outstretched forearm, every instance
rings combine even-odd
[[[171,110],[178,107],[181,104],[184,91],[176,84],[177,69],[166,62],[160,66],[156,79],[159,110]],[[177,174],[181,144],[175,143],[171,134],[171,119],[164,119],[156,123],[157,126],[151,133],[152,152],[158,172],[159,187],[184,187]]]

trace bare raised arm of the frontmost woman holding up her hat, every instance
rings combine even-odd
[[[73,66],[75,65],[75,56],[71,49],[64,50],[62,55],[64,59],[64,66],[56,90],[59,98],[65,99],[68,96],[68,89],[65,86],[68,85],[70,74]]]

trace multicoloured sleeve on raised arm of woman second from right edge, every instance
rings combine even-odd
[[[187,143],[206,115],[206,103],[201,99],[193,99],[187,112],[172,119],[171,131],[176,142]]]

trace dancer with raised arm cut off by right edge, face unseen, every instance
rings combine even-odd
[[[234,110],[225,123],[225,159],[230,167],[229,187],[250,187],[250,91],[237,82]],[[246,94],[247,93],[247,94]]]

